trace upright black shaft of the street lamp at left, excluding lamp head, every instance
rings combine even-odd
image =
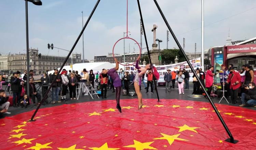
[[[26,5],[26,42],[27,42],[27,95],[29,99],[29,45],[28,45],[28,1],[25,0]]]

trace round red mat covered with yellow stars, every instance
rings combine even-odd
[[[256,149],[256,111],[216,104],[237,144],[209,103],[162,99],[65,104],[0,119],[1,150]],[[24,108],[23,108],[24,109]]]

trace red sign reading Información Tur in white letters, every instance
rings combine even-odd
[[[241,52],[256,52],[256,44],[227,46],[227,54],[241,53]]]

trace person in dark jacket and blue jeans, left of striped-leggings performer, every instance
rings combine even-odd
[[[56,81],[53,81],[55,76],[57,76]],[[61,75],[58,74],[58,69],[54,69],[54,74],[52,74],[50,78],[51,83],[53,84],[52,91],[52,99],[53,101],[57,102],[59,100],[59,91],[61,86]]]

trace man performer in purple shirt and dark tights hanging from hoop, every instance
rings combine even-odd
[[[121,106],[119,104],[122,83],[121,83],[121,79],[119,78],[119,75],[116,73],[116,71],[119,68],[119,64],[118,64],[119,62],[116,58],[115,58],[115,62],[116,62],[116,67],[110,69],[109,71],[104,69],[102,71],[102,74],[108,74],[113,79],[113,85],[116,88],[116,108],[118,109],[119,112],[122,112]]]

